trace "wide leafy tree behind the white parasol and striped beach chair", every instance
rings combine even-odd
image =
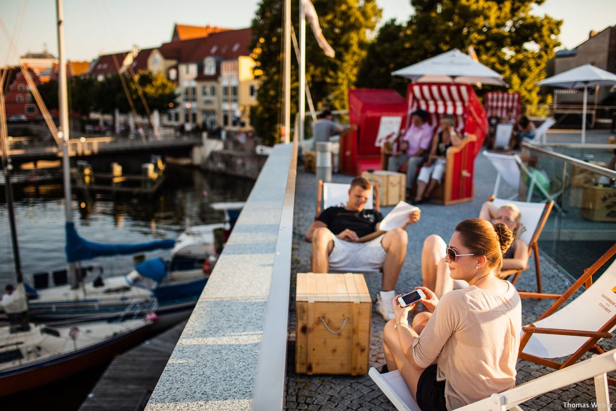
[[[406,25],[388,23],[381,28],[360,70],[361,86],[396,87],[393,71],[434,57],[453,48],[467,52],[474,47],[479,61],[501,73],[524,104],[536,107],[542,101],[537,81],[544,78],[546,62],[559,46],[562,20],[533,15],[532,6],[544,0],[411,0],[415,8]],[[400,61],[400,56],[403,60]],[[395,67],[389,70],[391,62]],[[389,84],[384,84],[389,83]]]

